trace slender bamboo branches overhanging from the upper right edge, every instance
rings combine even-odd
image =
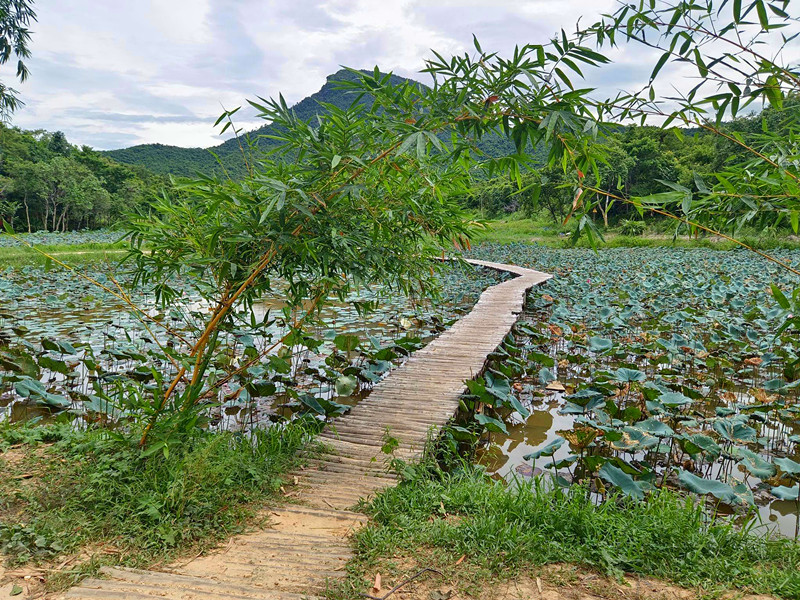
[[[669,191],[634,198],[644,210],[679,213],[690,228],[735,232],[745,224],[780,222],[798,231],[800,71],[781,51],[800,33],[800,18],[786,0],[713,3],[710,0],[620,5],[585,29],[579,39],[599,46],[636,44],[659,52],[649,83],[637,92],[597,102],[604,118],[673,123],[712,136],[716,154],[706,181],[665,178]],[[689,64],[697,83],[665,102],[659,77],[669,65]],[[749,107],[767,106],[758,118],[736,119]],[[725,119],[734,117],[726,124]],[[706,152],[706,159],[708,152]],[[591,204],[597,190],[584,196]]]

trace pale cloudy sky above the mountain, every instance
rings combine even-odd
[[[346,65],[416,78],[431,49],[544,43],[611,12],[615,0],[38,0],[31,76],[14,82],[25,129],[74,144],[208,147],[223,107],[283,93],[290,104]],[[593,83],[613,94],[647,81],[657,57],[615,53]],[[9,65],[0,78],[10,79]],[[679,74],[677,75],[679,76]],[[260,123],[245,109],[237,125]]]

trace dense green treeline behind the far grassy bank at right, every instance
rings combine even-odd
[[[723,126],[728,137],[705,130],[658,127],[619,127],[609,132],[602,145],[606,163],[599,167],[599,180],[587,173],[587,184],[624,198],[670,191],[664,182],[690,190],[716,181],[729,165],[746,162],[753,155],[739,143],[757,140],[763,129],[780,130],[796,121],[800,100],[790,99],[782,111],[768,108],[761,114],[737,118]],[[545,212],[562,221],[572,208],[574,183],[561,169],[536,169],[517,181],[495,178],[476,182],[464,197],[467,207],[486,217],[500,217],[522,211],[528,215]],[[636,214],[628,203],[607,197],[597,207],[598,222],[606,226]]]

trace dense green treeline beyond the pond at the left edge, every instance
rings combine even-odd
[[[73,146],[60,131],[0,125],[0,218],[17,230],[106,227],[164,183],[146,169]]]

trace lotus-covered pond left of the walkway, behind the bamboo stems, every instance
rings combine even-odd
[[[175,372],[165,349],[191,338],[208,310],[188,278],[171,282],[179,298],[159,310],[152,294],[131,289],[130,279],[110,265],[89,264],[82,272],[107,291],[62,269],[24,266],[2,273],[0,419],[117,423],[141,413],[148,405],[143,393]],[[210,399],[212,426],[241,429],[297,413],[327,418],[345,412],[501,277],[449,266],[435,303],[362,288],[331,300],[302,334],[283,343],[298,311],[285,307],[279,294],[264,299],[252,313],[236,315],[223,334],[224,351],[210,377],[229,377],[268,354]],[[148,318],[138,318],[112,291],[127,294]]]

